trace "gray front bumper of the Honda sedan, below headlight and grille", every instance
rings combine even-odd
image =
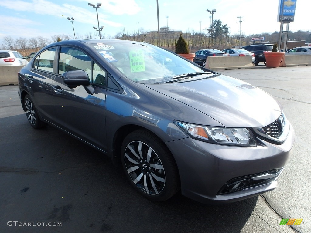
[[[294,145],[294,130],[290,126],[287,139],[281,145],[256,140],[256,147],[225,146],[192,138],[167,142],[179,169],[182,194],[202,203],[229,203],[275,189]],[[220,194],[233,179],[256,177],[275,169],[279,172],[275,172],[274,177],[272,172],[267,182]]]

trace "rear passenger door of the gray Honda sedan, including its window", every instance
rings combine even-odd
[[[55,124],[55,112],[52,107],[53,62],[56,47],[42,51],[31,64],[30,72],[25,74],[28,93],[34,100],[40,117]]]

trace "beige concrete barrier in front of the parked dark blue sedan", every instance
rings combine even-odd
[[[251,56],[207,57],[205,68],[210,70],[236,70],[254,68]]]

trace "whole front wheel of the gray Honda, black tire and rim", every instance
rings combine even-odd
[[[151,132],[136,130],[127,135],[121,146],[121,160],[129,181],[147,199],[165,201],[179,190],[174,158]]]

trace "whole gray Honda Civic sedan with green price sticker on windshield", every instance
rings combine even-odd
[[[50,124],[122,164],[154,201],[234,202],[276,188],[295,135],[281,104],[151,44],[67,40],[18,73],[30,125]]]

